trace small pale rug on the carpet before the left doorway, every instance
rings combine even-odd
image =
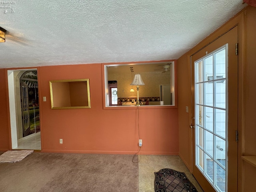
[[[12,150],[0,155],[0,163],[15,163],[30,155],[34,150]]]

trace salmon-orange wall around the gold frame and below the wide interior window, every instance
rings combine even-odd
[[[134,154],[139,112],[142,154],[178,154],[178,109],[103,109],[102,64],[44,66],[38,76],[42,152]],[[90,81],[90,109],[51,109],[50,80],[83,78]]]

